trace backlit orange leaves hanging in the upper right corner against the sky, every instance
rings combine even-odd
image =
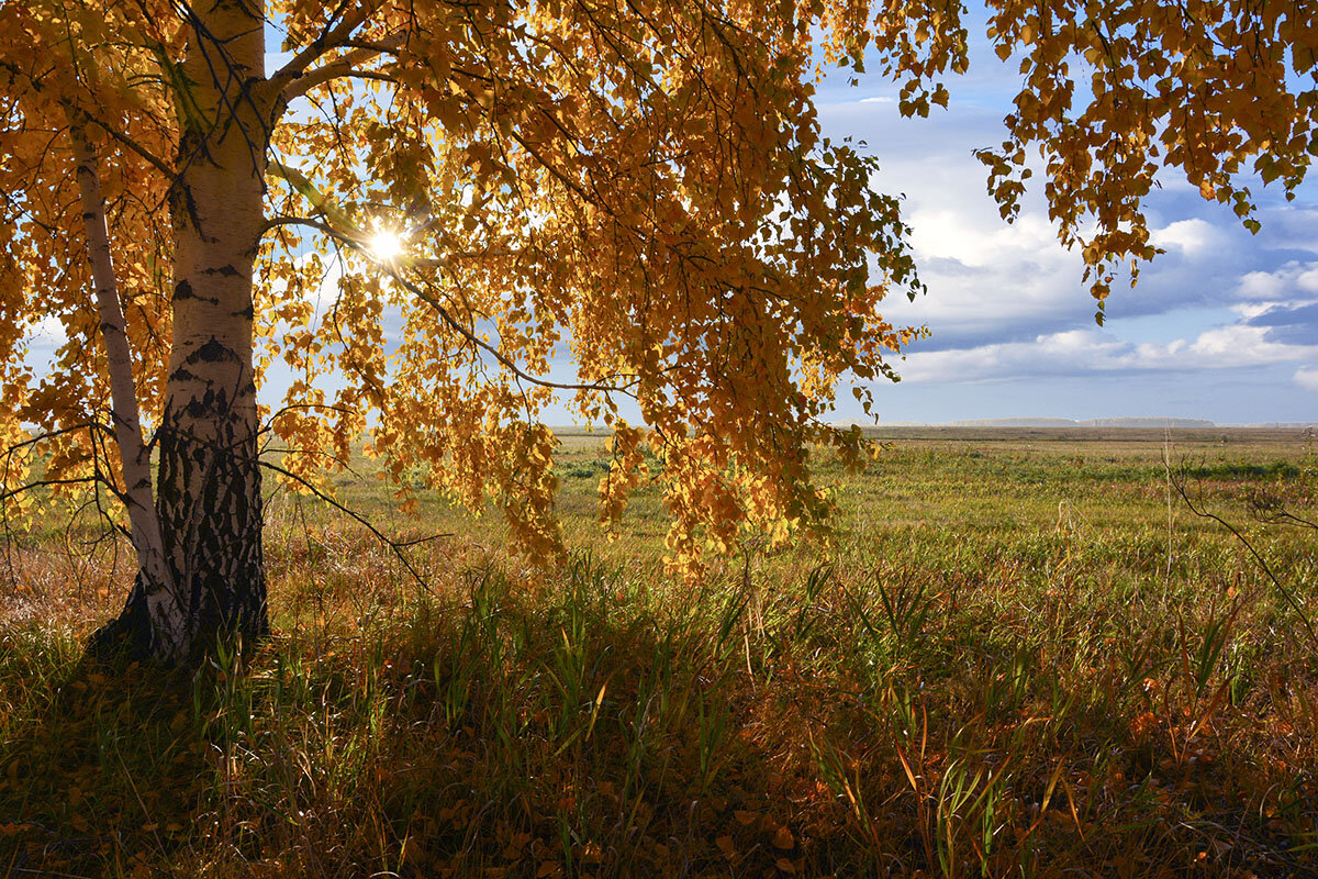
[[[1102,303],[1123,261],[1155,248],[1143,203],[1173,169],[1257,231],[1246,183],[1257,174],[1288,198],[1318,132],[1318,45],[1304,3],[1156,0],[991,3],[999,55],[1024,82],[1008,140],[985,150],[990,192],[1014,215],[1027,154],[1048,173],[1049,212],[1085,257]]]

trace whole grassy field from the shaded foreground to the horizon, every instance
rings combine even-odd
[[[1276,521],[1318,518],[1318,447],[882,439],[834,474],[833,551],[749,547],[699,590],[662,573],[652,494],[600,538],[594,436],[563,438],[551,576],[497,515],[409,523],[369,474],[339,490],[382,531],[456,535],[411,551],[426,586],[274,497],[244,668],[107,677],[80,644],[130,553],[17,539],[0,875],[1318,874],[1318,531]]]

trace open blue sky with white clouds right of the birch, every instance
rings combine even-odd
[[[971,150],[1003,140],[1019,76],[978,33],[970,71],[948,82],[949,107],[929,119],[902,119],[896,87],[879,76],[855,87],[833,76],[817,95],[825,134],[866,141],[883,169],[876,188],[905,196],[928,285],[886,312],[932,336],[896,364],[899,385],[874,386],[880,420],[1318,420],[1318,181],[1292,203],[1251,184],[1263,221],[1252,236],[1165,175],[1147,207],[1166,253],[1133,290],[1114,286],[1099,328],[1079,257],[1057,242],[1040,192],[1014,225],[986,192]],[[838,418],[861,418],[846,401]]]

